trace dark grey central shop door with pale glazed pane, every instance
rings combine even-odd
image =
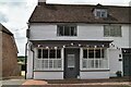
[[[80,49],[64,49],[64,78],[76,78],[80,72]]]

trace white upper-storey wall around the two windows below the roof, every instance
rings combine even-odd
[[[104,37],[105,24],[78,24],[78,36],[57,36],[56,24],[31,24],[31,40],[114,40],[117,47],[129,47],[129,25],[121,25],[122,37]]]

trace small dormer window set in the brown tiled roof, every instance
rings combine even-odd
[[[95,17],[107,17],[107,10],[105,9],[95,9]]]

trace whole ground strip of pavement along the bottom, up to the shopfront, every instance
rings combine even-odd
[[[63,80],[36,80],[24,78],[11,78],[1,80],[0,87],[131,87],[131,82],[119,79],[63,79]]]

